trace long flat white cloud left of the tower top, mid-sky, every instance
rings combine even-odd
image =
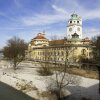
[[[53,23],[58,23],[61,21],[66,20],[66,16],[62,16],[61,14],[54,14],[54,15],[46,15],[46,14],[36,14],[29,17],[23,17],[21,22],[27,26],[31,25],[49,25]]]

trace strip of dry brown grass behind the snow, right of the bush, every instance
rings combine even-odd
[[[52,71],[62,71],[64,70],[63,66],[60,67],[51,67]],[[81,69],[77,67],[68,67],[66,70],[66,73],[74,74],[83,76],[86,78],[92,78],[92,79],[98,79],[98,71],[97,70],[91,70],[91,69]]]

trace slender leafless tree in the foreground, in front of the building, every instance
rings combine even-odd
[[[80,78],[76,77],[75,75],[71,75],[67,73],[67,69],[69,67],[69,55],[72,49],[71,47],[65,47],[65,60],[64,60],[64,65],[61,66],[61,64],[58,64],[59,66],[59,71],[55,71],[55,80],[56,80],[56,84],[57,84],[57,91],[56,91],[56,95],[58,97],[58,100],[62,100],[62,91],[63,89],[68,86],[69,84],[74,84],[74,85],[78,85],[80,82]],[[74,49],[72,49],[73,51]],[[56,63],[56,57],[55,56],[55,63]],[[56,64],[55,64],[56,65]]]

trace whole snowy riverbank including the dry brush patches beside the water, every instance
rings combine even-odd
[[[38,64],[34,64],[32,62],[22,62],[18,66],[18,69],[14,71],[9,62],[2,61],[0,62],[0,81],[31,97],[34,97],[35,99],[43,100],[43,98],[41,99],[40,94],[48,91],[49,86],[53,85],[53,89],[56,86],[52,80],[54,75],[40,76],[37,72],[38,67],[40,67]],[[81,82],[79,85],[70,85],[66,87],[66,90],[71,92],[70,100],[73,100],[73,98],[80,100],[81,97],[89,97],[92,100],[100,100],[100,96],[98,94],[99,81],[97,79],[85,77],[80,78]],[[70,94],[70,92],[67,93]]]

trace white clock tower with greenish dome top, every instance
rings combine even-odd
[[[82,18],[74,13],[68,21],[67,39],[71,39],[75,33],[82,39]]]

